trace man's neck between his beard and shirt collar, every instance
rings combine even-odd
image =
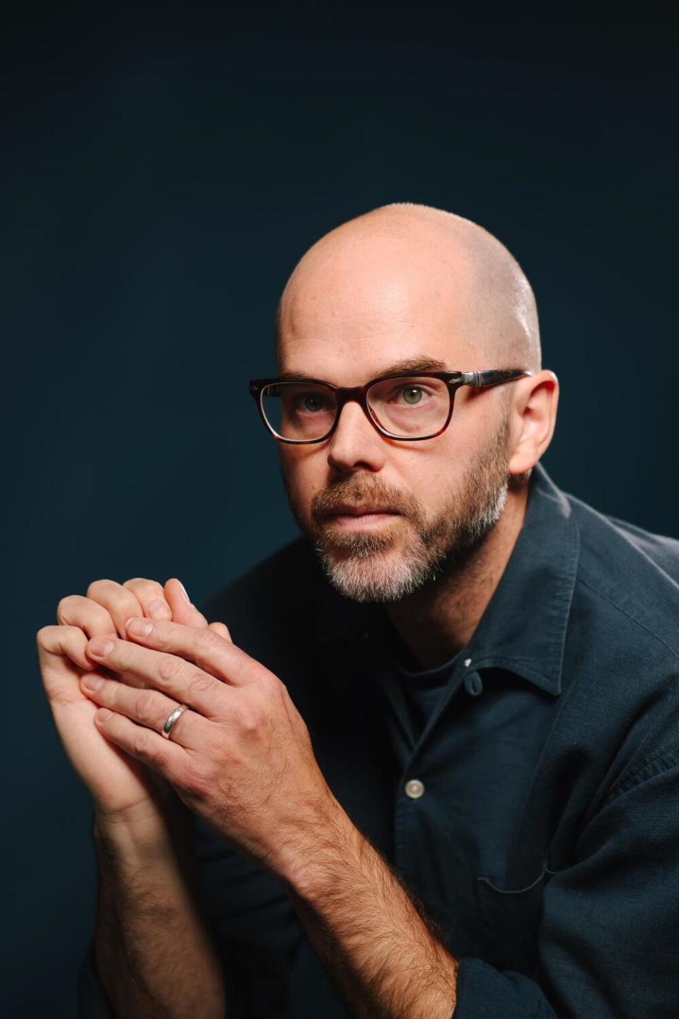
[[[509,561],[527,499],[527,481],[510,488],[497,524],[461,566],[385,606],[392,626],[423,668],[448,661],[473,634]]]

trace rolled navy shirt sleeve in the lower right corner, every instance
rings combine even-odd
[[[679,1003],[679,746],[623,779],[545,887],[534,973],[462,959],[453,1019],[671,1019]]]

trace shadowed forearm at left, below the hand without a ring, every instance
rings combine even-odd
[[[219,959],[195,905],[181,826],[130,829],[97,819],[95,955],[125,1019],[222,1019]]]

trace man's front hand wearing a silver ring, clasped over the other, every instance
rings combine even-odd
[[[80,680],[100,705],[100,732],[163,775],[238,849],[288,876],[339,805],[284,684],[214,630],[132,619],[125,635],[86,647],[118,674]],[[166,739],[163,726],[178,704],[187,709]]]

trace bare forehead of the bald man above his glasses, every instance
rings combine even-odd
[[[283,296],[280,373],[359,385],[407,361],[474,367],[461,270],[441,259],[433,270],[393,243],[331,254],[302,264]]]

